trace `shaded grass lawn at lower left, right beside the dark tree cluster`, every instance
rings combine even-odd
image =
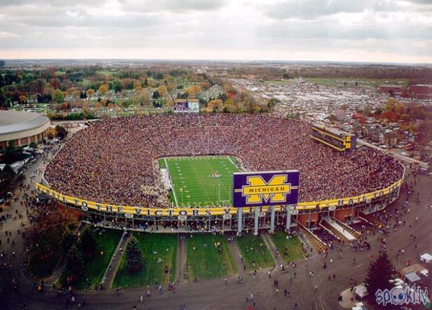
[[[77,284],[77,288],[94,288],[100,284],[122,233],[123,231],[117,229],[108,229],[101,234],[95,233],[97,250],[91,258],[84,258],[84,277]],[[103,255],[100,255],[101,251]]]

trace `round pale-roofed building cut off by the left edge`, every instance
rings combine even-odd
[[[9,142],[24,146],[45,139],[49,118],[41,114],[24,111],[0,110],[0,146],[6,148]]]

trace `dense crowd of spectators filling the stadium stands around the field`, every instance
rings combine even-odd
[[[171,114],[111,118],[74,134],[47,166],[52,189],[123,206],[167,207],[157,157],[235,155],[250,171],[297,169],[299,201],[356,196],[402,177],[392,157],[362,148],[339,153],[309,137],[310,125],[248,114]]]

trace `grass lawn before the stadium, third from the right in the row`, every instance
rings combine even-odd
[[[220,242],[222,253],[218,254],[215,243]],[[236,261],[229,250],[224,235],[194,233],[186,239],[186,269],[191,281],[231,276],[237,273]]]

